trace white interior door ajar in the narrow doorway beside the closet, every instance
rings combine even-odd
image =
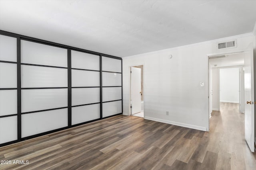
[[[140,68],[131,67],[131,105],[132,105],[132,114],[138,113],[141,111],[141,71]]]

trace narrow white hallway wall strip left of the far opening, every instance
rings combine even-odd
[[[212,68],[212,110],[220,109],[220,72],[219,68]]]

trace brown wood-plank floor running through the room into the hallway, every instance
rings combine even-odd
[[[256,169],[256,154],[244,140],[244,114],[231,103],[213,111],[210,132],[119,115],[2,147],[0,160],[11,161],[1,170]]]

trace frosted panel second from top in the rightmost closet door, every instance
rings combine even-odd
[[[102,72],[102,86],[122,86],[122,74]]]

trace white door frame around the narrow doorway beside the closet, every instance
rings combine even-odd
[[[131,73],[130,73],[130,71],[131,71],[131,67],[134,67],[134,66],[143,66],[143,92],[142,92],[142,95],[143,95],[143,109],[144,109],[144,117],[145,117],[145,64],[143,63],[143,64],[135,64],[135,65],[131,65],[131,66],[129,66],[128,67],[128,69],[129,69],[129,103],[128,103],[128,107],[129,107],[129,113],[128,113],[128,116],[129,115],[132,115],[132,112],[131,112],[131,92],[132,92],[132,84],[131,84]]]

